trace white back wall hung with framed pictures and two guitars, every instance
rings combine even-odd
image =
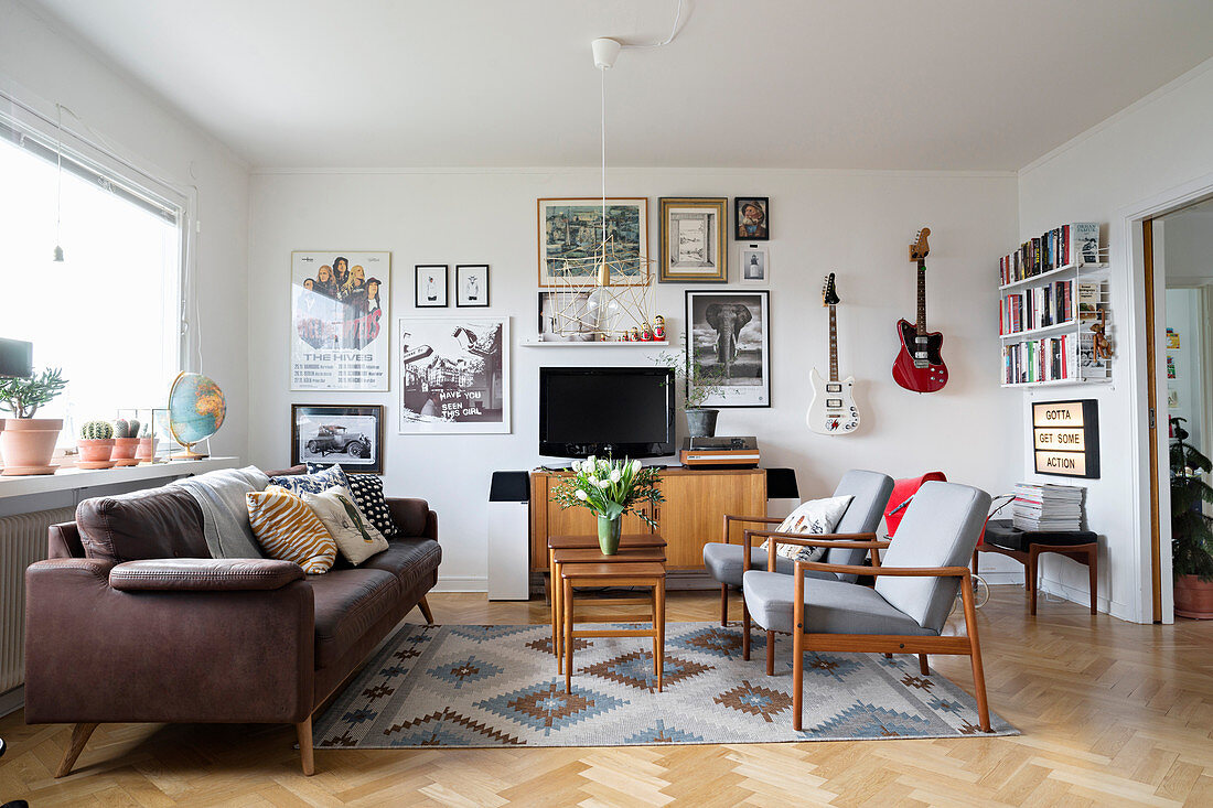
[[[249,336],[251,459],[289,459],[290,404],[387,405],[386,489],[422,496],[439,513],[443,585],[484,588],[485,500],[492,470],[531,468],[537,455],[540,364],[647,364],[643,351],[522,348],[535,335],[535,200],[592,195],[597,170],[255,172],[251,190]],[[773,408],[728,409],[722,434],[756,434],[768,466],[791,466],[804,496],[827,494],[850,467],[894,477],[940,468],[997,494],[1020,476],[1019,397],[998,387],[997,256],[1015,241],[1012,175],[623,170],[609,193],[649,198],[650,249],[661,195],[763,194],[771,199]],[[947,387],[917,396],[896,387],[894,323],[913,319],[915,272],[906,245],[932,227],[929,325],[945,334]],[[414,264],[491,264],[491,309],[513,318],[513,433],[398,436],[392,393],[290,393],[289,266],[292,250],[391,250],[392,318],[412,315]],[[735,247],[730,267],[736,278]],[[839,363],[859,380],[864,426],[822,437],[804,425],[811,366],[827,365],[821,281],[838,273]],[[680,338],[683,292],[659,285],[657,308]],[[454,314],[457,309],[446,309]],[[422,313],[434,314],[432,309]],[[394,332],[394,323],[393,329]],[[395,346],[393,345],[393,348]],[[993,562],[990,564],[993,569]]]

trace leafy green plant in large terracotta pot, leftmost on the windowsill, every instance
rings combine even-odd
[[[35,419],[38,408],[63,392],[67,381],[58,368],[46,368],[29,379],[0,379],[0,409],[12,412],[0,432],[0,455],[6,477],[53,474],[55,443],[63,419]]]

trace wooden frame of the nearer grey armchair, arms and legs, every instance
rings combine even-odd
[[[871,542],[884,544],[888,542]],[[873,554],[876,550],[872,550]],[[930,576],[961,579],[961,599],[964,604],[963,637],[922,637],[913,635],[807,635],[804,633],[804,570],[842,573],[844,575],[896,575]],[[818,562],[796,562],[793,576],[795,594],[792,601],[792,728],[801,730],[801,709],[804,689],[804,651],[841,651],[841,653],[894,653],[918,654],[926,660],[927,654],[968,655],[973,665],[973,685],[978,700],[978,716],[981,732],[990,732],[990,706],[986,701],[985,673],[981,670],[981,644],[978,641],[976,607],[973,603],[973,579],[967,567],[850,567],[844,564],[822,564]],[[770,644],[768,643],[768,648]],[[926,675],[926,670],[923,673]]]

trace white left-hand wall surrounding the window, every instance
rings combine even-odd
[[[212,451],[247,454],[247,166],[56,23],[16,0],[0,0],[0,89],[51,119],[55,104],[63,104],[84,121],[64,114],[64,129],[107,150],[116,147],[119,157],[184,193],[197,186],[204,362],[198,368],[192,352],[187,368],[212,376],[228,398],[227,422],[212,439]]]

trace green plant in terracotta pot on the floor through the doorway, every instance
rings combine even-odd
[[[1175,614],[1213,620],[1213,488],[1201,474],[1209,459],[1188,443],[1186,419],[1172,417],[1171,432],[1171,564],[1175,577]]]

